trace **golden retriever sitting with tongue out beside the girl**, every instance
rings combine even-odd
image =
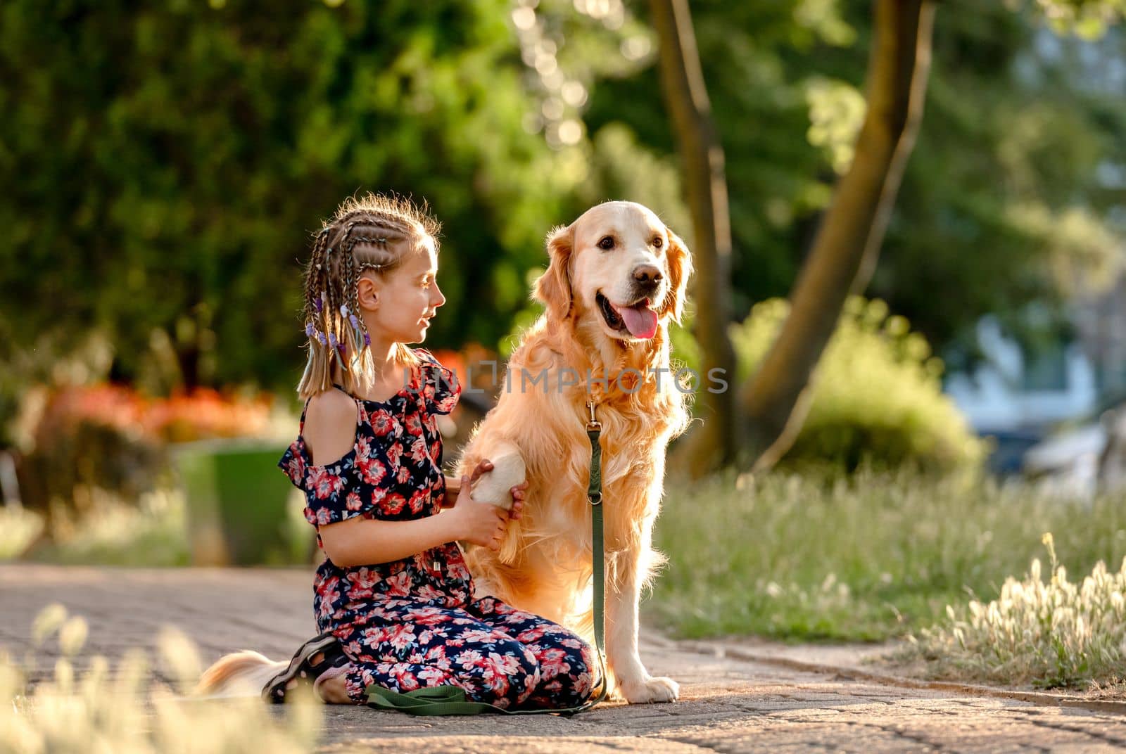
[[[508,362],[500,401],[458,461],[518,452],[529,482],[524,515],[497,551],[466,557],[477,596],[592,636],[587,402],[602,424],[606,654],[631,703],[672,701],[678,686],[653,677],[637,650],[641,591],[661,556],[651,545],[669,441],[687,427],[686,397],[670,374],[668,321],[680,321],[691,257],[640,204],[608,201],[547,237],[536,297],[546,311]],[[606,382],[602,382],[602,380]],[[506,481],[504,485],[511,481]]]

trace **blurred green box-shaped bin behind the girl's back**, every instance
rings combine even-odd
[[[294,487],[277,467],[286,447],[245,439],[175,446],[193,565],[292,562],[286,504]]]

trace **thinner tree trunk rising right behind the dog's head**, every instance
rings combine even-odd
[[[696,388],[696,415],[704,420],[685,438],[674,464],[694,475],[733,461],[739,447],[733,389],[709,393],[709,369],[723,369],[729,385],[735,354],[727,336],[731,321],[731,218],[723,146],[712,119],[712,104],[687,0],[650,0],[660,44],[661,89],[672,118],[683,162],[685,194],[695,237],[690,284],[695,308],[692,331],[700,348],[703,372]]]

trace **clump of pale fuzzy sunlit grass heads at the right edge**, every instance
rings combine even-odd
[[[1126,558],[1117,573],[1101,560],[1081,583],[1067,581],[1054,538],[1045,584],[1040,562],[1009,577],[995,600],[947,605],[947,618],[911,636],[897,659],[923,659],[933,677],[1038,686],[1116,680],[1126,667]]]

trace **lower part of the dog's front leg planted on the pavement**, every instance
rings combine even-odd
[[[606,657],[622,694],[631,704],[674,701],[680,686],[668,677],[654,677],[641,662],[637,649],[637,603],[652,555],[646,521],[640,542],[641,553],[623,553],[615,578],[606,584]]]

